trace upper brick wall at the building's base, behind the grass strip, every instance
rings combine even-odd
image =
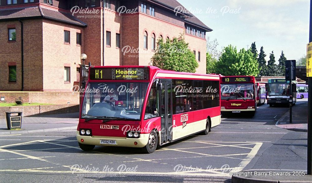
[[[15,103],[15,99],[22,97],[24,103],[47,104],[79,104],[79,92],[0,92],[5,102]]]

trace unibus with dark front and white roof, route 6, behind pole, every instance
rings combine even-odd
[[[290,100],[290,82],[285,79],[269,79],[267,104],[273,105],[289,105],[290,102],[295,105],[296,99],[296,82],[292,81],[292,100]]]

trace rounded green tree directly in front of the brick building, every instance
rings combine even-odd
[[[195,55],[188,49],[188,43],[185,42],[182,35],[172,40],[167,39],[163,42],[160,38],[157,41],[157,48],[152,57],[153,65],[165,70],[178,72],[196,72],[198,62]]]

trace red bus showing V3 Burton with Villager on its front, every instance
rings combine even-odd
[[[257,110],[257,85],[253,76],[222,76],[221,113],[248,112],[255,115]]]

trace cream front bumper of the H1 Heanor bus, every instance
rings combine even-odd
[[[82,136],[79,131],[76,132],[77,141],[80,144],[95,145],[95,146],[121,146],[121,147],[144,147],[149,141],[149,134],[140,134],[139,138],[127,138],[116,136]],[[83,142],[81,142],[83,139]],[[115,140],[116,145],[100,144],[101,140]],[[137,145],[134,145],[137,142]]]

